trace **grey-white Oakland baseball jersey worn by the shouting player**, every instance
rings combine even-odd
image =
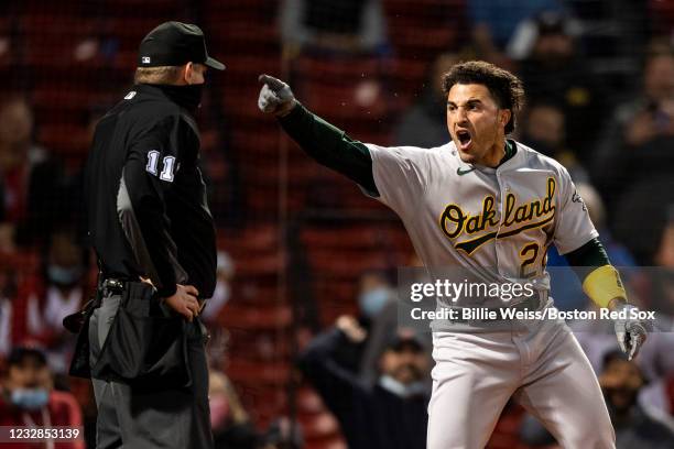
[[[464,163],[454,142],[367,144],[378,199],[400,216],[426,266],[459,265],[488,282],[547,281],[551,243],[565,254],[598,236],[566,168],[514,143],[497,168]]]

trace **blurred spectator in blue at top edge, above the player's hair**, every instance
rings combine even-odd
[[[543,11],[564,11],[558,0],[468,0],[472,42],[487,61],[502,65],[502,54],[518,24]]]

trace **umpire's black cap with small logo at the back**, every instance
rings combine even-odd
[[[208,56],[202,29],[191,23],[162,23],[148,33],[138,52],[139,67],[181,66],[191,62],[225,69],[222,63]]]

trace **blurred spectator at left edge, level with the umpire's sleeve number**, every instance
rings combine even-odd
[[[0,223],[20,244],[32,244],[56,220],[61,167],[33,142],[33,111],[15,97],[0,106]],[[6,225],[7,226],[7,225]]]

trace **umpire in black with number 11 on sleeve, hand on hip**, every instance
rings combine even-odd
[[[159,25],[94,135],[85,198],[99,295],[70,371],[93,379],[99,449],[213,447],[198,315],[216,284],[216,236],[194,120],[207,67],[225,68],[198,26]]]

